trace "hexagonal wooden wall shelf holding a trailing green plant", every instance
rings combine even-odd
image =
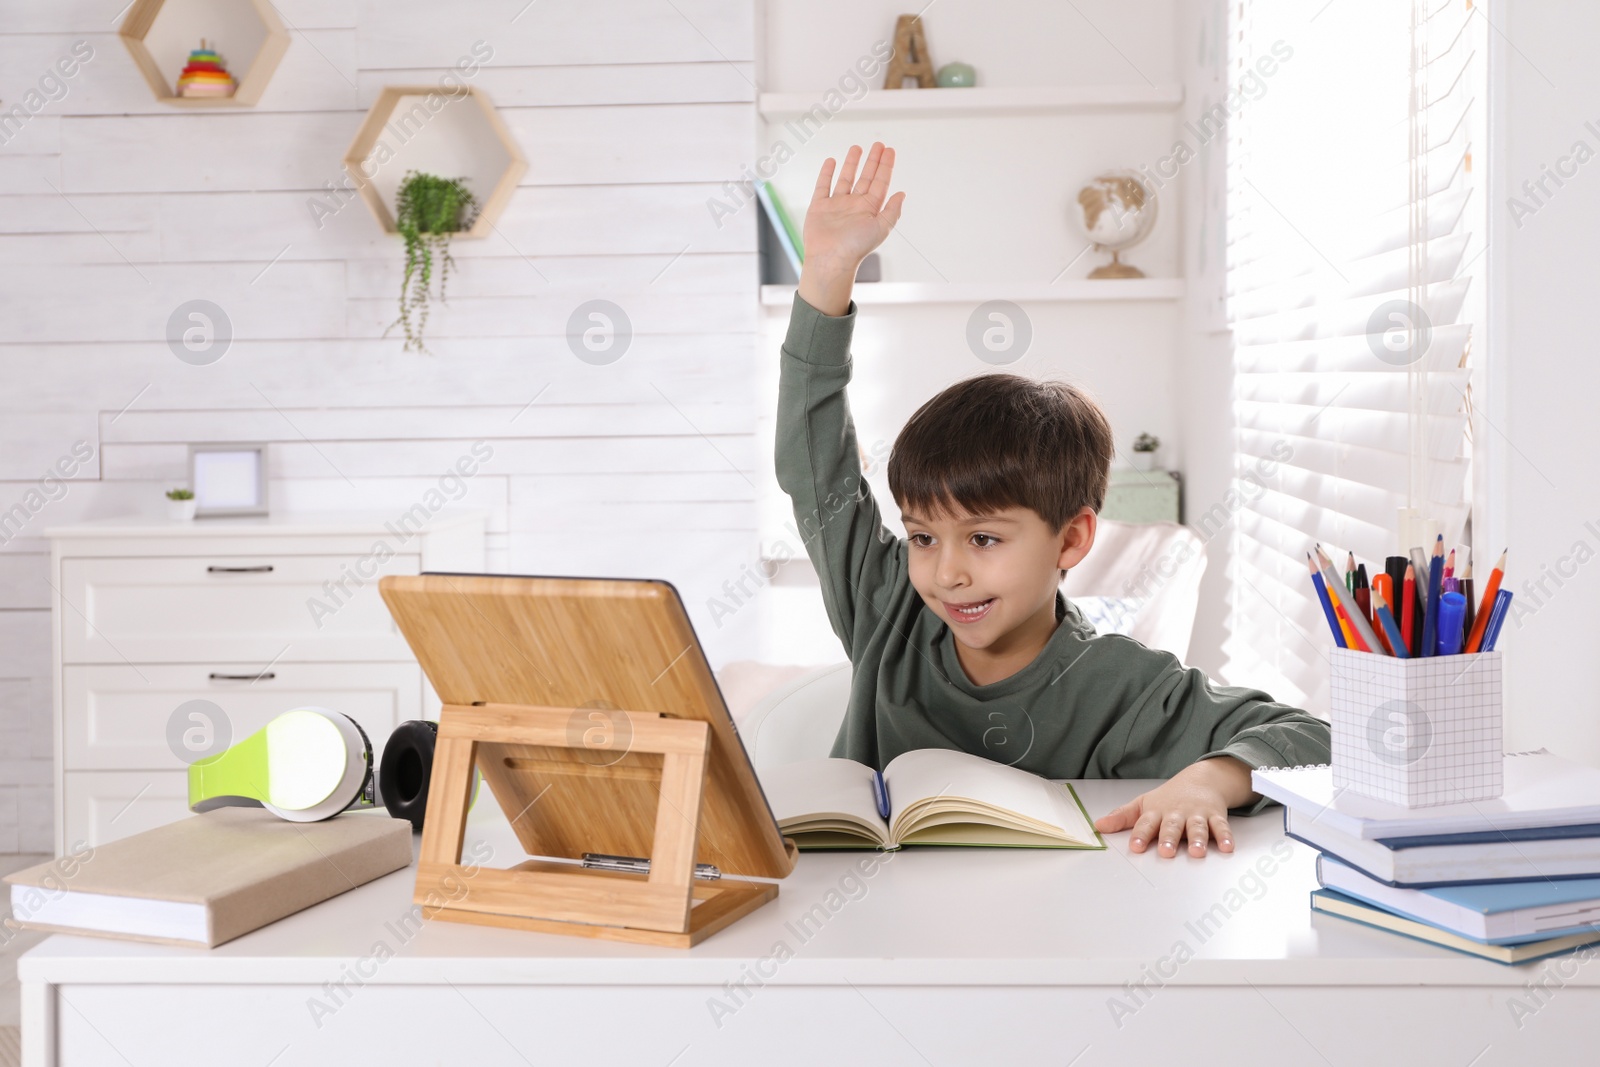
[[[395,232],[395,194],[406,171],[462,178],[478,200],[478,218],[459,235],[485,237],[528,162],[482,90],[390,85],[350,141],[344,170],[387,234]]]

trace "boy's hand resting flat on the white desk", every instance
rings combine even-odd
[[[1190,763],[1147,793],[1139,793],[1120,808],[1094,821],[1101,833],[1133,827],[1130,853],[1142,853],[1157,841],[1157,854],[1168,859],[1187,837],[1189,854],[1205,856],[1206,841],[1218,849],[1234,851],[1234,832],[1227,825],[1227,809],[1254,797],[1250,766],[1234,757],[1213,757]]]

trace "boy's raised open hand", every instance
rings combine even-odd
[[[850,146],[837,182],[834,165],[832,157],[822,160],[802,227],[805,264],[800,267],[800,298],[824,315],[850,310],[856,269],[894,229],[906,200],[904,192],[888,195],[894,149],[883,147],[882,141],[872,142],[866,163],[861,162],[861,146]]]

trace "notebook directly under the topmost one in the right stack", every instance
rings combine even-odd
[[[1323,825],[1312,813],[1285,808],[1283,832],[1384,885],[1413,889],[1600,877],[1600,825],[1589,822],[1368,841]]]

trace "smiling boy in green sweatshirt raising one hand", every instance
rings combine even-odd
[[[1099,637],[1059,590],[1094,544],[1110,426],[1062,382],[981,374],[912,416],[890,454],[906,523],[878,522],[845,402],[856,267],[899,219],[894,150],[822,163],[778,389],[778,483],[790,496],[851,661],[832,755],[883,768],[962,749],[1045,777],[1166,777],[1094,822],[1160,856],[1234,849],[1227,814],[1267,798],[1253,766],[1326,763],[1328,725],[1258,689],[1211,686],[1133,638]]]

